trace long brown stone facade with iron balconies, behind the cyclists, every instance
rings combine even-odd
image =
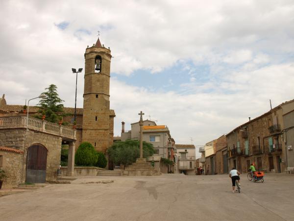
[[[283,142],[283,115],[293,110],[294,100],[282,103],[228,133],[229,169],[235,167],[245,173],[254,163],[258,170],[282,172],[287,152]]]

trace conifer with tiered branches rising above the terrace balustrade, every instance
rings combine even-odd
[[[63,111],[64,100],[59,98],[57,93],[57,86],[54,84],[50,84],[49,87],[45,88],[47,91],[43,94],[46,95],[45,98],[42,98],[39,102],[39,106],[44,110],[51,110],[54,113]]]

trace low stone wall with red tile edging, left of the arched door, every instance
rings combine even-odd
[[[3,169],[5,171],[5,175],[7,176],[2,185],[16,186],[21,183],[24,155],[0,150],[0,156],[2,158],[2,165],[0,165],[0,169]]]

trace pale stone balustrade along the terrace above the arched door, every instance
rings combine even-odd
[[[40,131],[48,133],[62,138],[76,139],[76,130],[62,125],[57,125],[46,120],[40,120],[37,118],[26,116],[3,116],[0,117],[0,129],[1,128],[27,128],[29,130]]]

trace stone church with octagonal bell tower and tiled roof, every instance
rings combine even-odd
[[[110,110],[110,50],[96,44],[85,52],[84,108],[76,108],[76,147],[82,141],[92,143],[103,153],[113,144],[115,111]],[[98,69],[99,70],[95,70]],[[7,105],[3,94],[0,98],[0,115],[22,114],[23,105]],[[39,107],[30,106],[29,114],[36,114]],[[73,124],[74,108],[64,107],[63,121]]]

